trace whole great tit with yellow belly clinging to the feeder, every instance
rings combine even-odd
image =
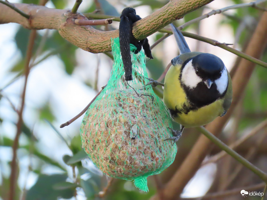
[[[182,33],[171,24],[180,49],[172,59],[163,90],[163,101],[173,120],[181,125],[172,130],[176,142],[183,129],[202,126],[223,116],[232,102],[232,81],[224,63],[210,53],[191,52]]]

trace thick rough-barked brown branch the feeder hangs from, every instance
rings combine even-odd
[[[144,39],[176,19],[213,0],[171,0],[165,6],[149,16],[137,21],[133,27],[133,35]],[[76,25],[72,19],[85,17],[72,14],[70,10],[51,9],[33,4],[15,3],[18,9],[31,15],[27,20],[19,13],[0,3],[0,24],[19,23],[28,29],[56,29],[60,35],[77,47],[92,53],[111,51],[111,38],[119,36],[119,31],[100,31],[91,26]]]

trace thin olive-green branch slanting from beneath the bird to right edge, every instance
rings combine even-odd
[[[236,153],[233,149],[230,149],[226,144],[224,144],[221,140],[219,140],[216,136],[214,136],[211,132],[209,132],[207,129],[205,129],[203,126],[197,127],[202,134],[204,134],[211,142],[216,144],[220,149],[224,150],[226,153],[231,155],[235,160],[243,164],[246,168],[251,170],[253,173],[255,173],[260,179],[262,179],[264,182],[267,183],[267,174],[257,168],[255,165],[253,165],[251,162],[243,158],[241,155]]]

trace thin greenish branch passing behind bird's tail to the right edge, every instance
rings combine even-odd
[[[160,30],[161,32],[165,32],[165,33],[170,33],[172,34],[172,31],[171,29],[161,29]],[[225,49],[235,55],[238,55],[242,58],[245,58],[246,60],[249,60],[251,62],[254,62],[255,64],[258,64],[260,66],[263,66],[265,68],[267,68],[267,63],[266,62],[263,62],[261,60],[258,60],[256,58],[253,58],[252,56],[250,55],[247,55],[246,53],[243,53],[241,51],[238,51],[236,49],[233,49],[231,47],[228,47],[227,45],[228,44],[225,44],[225,43],[221,43],[221,42],[218,42],[216,40],[213,40],[213,39],[210,39],[210,38],[206,38],[206,37],[203,37],[203,36],[199,36],[199,35],[196,35],[196,34],[193,34],[193,33],[189,33],[189,32],[184,32],[184,31],[181,31],[182,34],[185,36],[185,37],[189,37],[189,38],[193,38],[193,39],[196,39],[196,40],[200,40],[202,42],[207,42],[213,46],[217,46],[217,47],[220,47],[222,49]]]

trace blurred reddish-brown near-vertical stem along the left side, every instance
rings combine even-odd
[[[23,109],[24,109],[24,104],[25,104],[25,93],[26,93],[26,86],[27,86],[27,80],[28,76],[30,73],[30,59],[32,56],[32,49],[34,46],[34,39],[36,38],[36,30],[32,30],[30,33],[30,39],[29,39],[29,44],[27,47],[27,53],[26,53],[26,58],[25,58],[25,82],[24,82],[24,87],[23,87],[23,92],[21,95],[21,108],[19,110],[19,120],[17,123],[17,132],[16,136],[14,138],[13,146],[12,146],[12,151],[13,151],[13,158],[11,162],[11,174],[10,174],[10,190],[9,190],[9,199],[13,200],[15,196],[15,188],[16,188],[16,176],[17,176],[17,163],[16,163],[16,158],[17,158],[17,148],[19,146],[19,136],[21,134],[21,127],[22,127],[22,122],[23,122]]]

